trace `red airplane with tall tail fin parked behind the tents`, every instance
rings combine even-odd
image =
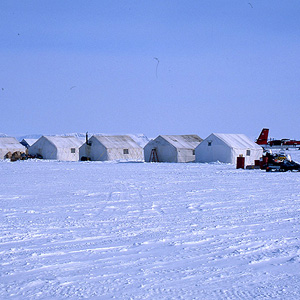
[[[258,139],[256,140],[256,144],[262,146],[263,148],[283,148],[288,150],[289,148],[298,148],[300,150],[300,141],[290,140],[290,139],[281,139],[268,140],[269,129],[263,128]]]

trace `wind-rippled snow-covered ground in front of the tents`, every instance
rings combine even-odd
[[[1,299],[300,299],[298,172],[33,160],[0,174]]]

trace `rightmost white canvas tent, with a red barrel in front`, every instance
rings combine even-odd
[[[224,162],[235,164],[238,156],[245,157],[245,165],[253,165],[263,149],[244,134],[212,133],[196,148],[196,162]]]

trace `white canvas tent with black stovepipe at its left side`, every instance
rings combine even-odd
[[[80,159],[144,161],[143,148],[128,135],[94,135],[79,149]]]

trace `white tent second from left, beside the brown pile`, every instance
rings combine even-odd
[[[31,155],[44,159],[78,161],[82,142],[74,136],[42,136],[28,149]]]

